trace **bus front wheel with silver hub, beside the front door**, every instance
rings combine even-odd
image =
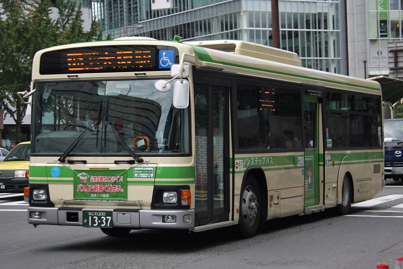
[[[259,185],[252,175],[249,175],[244,182],[239,207],[238,230],[240,235],[242,238],[252,237],[259,227],[261,215]]]

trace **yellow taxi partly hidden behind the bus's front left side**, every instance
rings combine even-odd
[[[19,143],[0,162],[0,192],[24,192],[28,187],[31,142]]]

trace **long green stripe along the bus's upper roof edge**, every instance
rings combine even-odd
[[[270,69],[263,69],[263,68],[244,66],[244,65],[234,64],[234,63],[216,61],[211,58],[211,56],[209,55],[209,53],[206,51],[205,48],[199,47],[199,46],[193,46],[193,51],[194,51],[194,53],[196,53],[196,56],[198,57],[198,59],[200,59],[200,61],[203,61],[203,62],[210,62],[210,63],[216,63],[216,64],[221,64],[221,65],[226,65],[226,66],[239,67],[239,68],[246,68],[246,69],[262,71],[262,72],[266,72],[266,73],[285,75],[285,76],[296,77],[296,78],[304,78],[304,79],[310,79],[310,80],[317,80],[317,81],[322,81],[322,82],[329,82],[329,83],[334,83],[334,84],[340,84],[340,85],[346,85],[346,86],[352,86],[352,87],[358,87],[358,88],[364,88],[364,89],[370,89],[370,90],[377,90],[377,91],[380,90],[379,88],[357,85],[357,84],[352,84],[352,83],[347,83],[347,82],[340,82],[340,81],[328,80],[328,79],[323,79],[323,78],[315,78],[315,77],[280,72],[280,71],[275,71],[275,70],[270,70]]]

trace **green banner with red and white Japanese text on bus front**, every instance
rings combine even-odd
[[[75,170],[75,200],[126,200],[126,170]]]

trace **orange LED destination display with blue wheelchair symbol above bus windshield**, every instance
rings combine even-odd
[[[169,70],[178,63],[170,46],[94,46],[48,51],[42,54],[39,73],[84,74]]]

